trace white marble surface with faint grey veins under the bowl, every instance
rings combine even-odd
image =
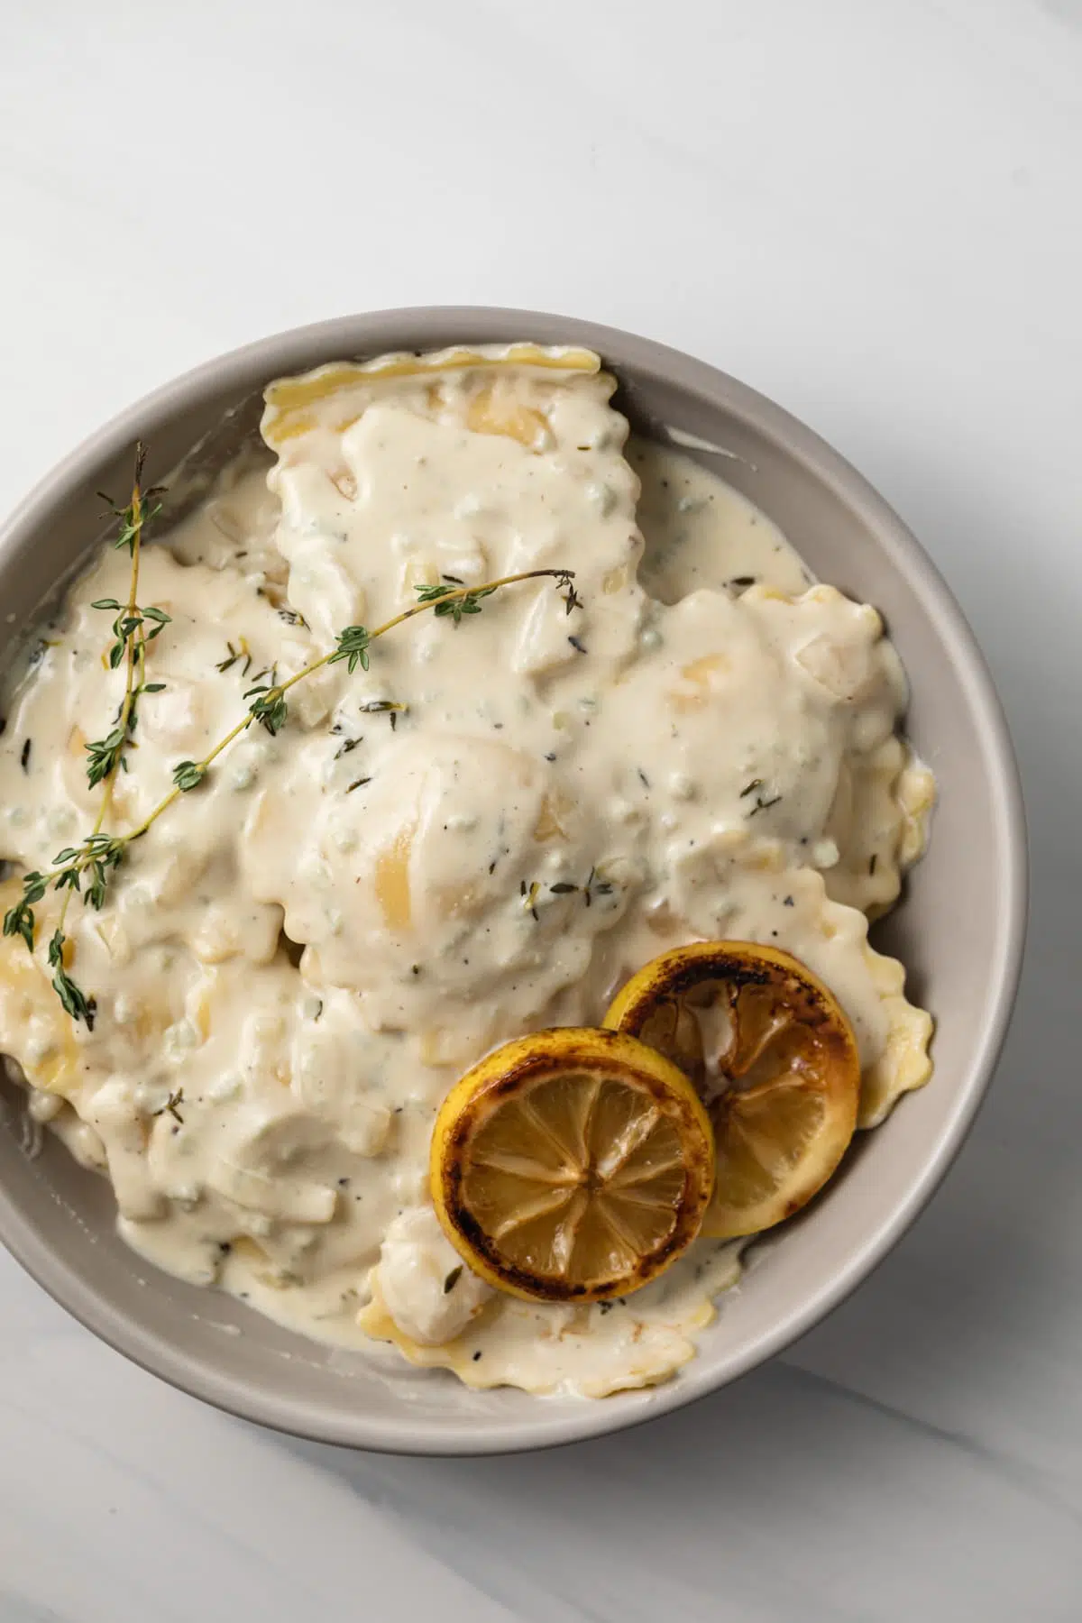
[[[482,1462],[289,1443],[0,1255],[2,1623],[1079,1618],[1080,0],[0,11],[0,506],[297,321],[440,300],[649,333],[915,526],[993,661],[1035,854],[1007,1055],[931,1211],[785,1358],[642,1431]]]

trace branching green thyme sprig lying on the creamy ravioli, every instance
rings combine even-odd
[[[152,635],[157,635],[156,631],[151,633],[146,631],[146,620],[151,618],[154,625],[159,626],[159,630],[161,623],[167,623],[167,620],[159,623],[152,615],[148,615],[148,610],[136,609],[136,588],[138,588],[136,571],[138,571],[141,529],[140,524],[131,518],[131,514],[135,513],[138,519],[138,514],[143,511],[144,498],[140,493],[140,484],[138,484],[141,466],[143,461],[140,448],[140,456],[136,458],[136,479],[133,485],[131,508],[127,508],[123,510],[123,513],[118,514],[123,523],[117,545],[125,545],[125,544],[130,545],[133,560],[130,605],[122,618],[122,623],[127,623],[128,620],[136,622],[135,625],[131,625],[128,631],[117,633],[125,636],[128,644],[128,659],[130,659],[128,683],[125,687],[125,704],[122,704],[122,711],[117,721],[117,727],[122,732],[123,743],[130,740],[130,719],[131,719],[130,695],[135,695],[138,698],[140,691],[152,691],[157,687],[151,685],[151,688],[148,688],[143,683],[146,643],[151,639]],[[157,511],[157,508],[154,508],[152,511]],[[141,523],[148,521],[149,518],[143,518]],[[68,1014],[71,1014],[71,1018],[76,1021],[83,1019],[88,1029],[92,1029],[94,1000],[84,997],[84,993],[76,987],[76,984],[68,975],[63,962],[63,948],[65,948],[63,917],[73,891],[79,891],[83,894],[84,906],[101,909],[105,901],[109,883],[115,870],[122,865],[128,846],[131,846],[136,839],[141,839],[143,834],[146,834],[146,831],[159,820],[159,816],[162,816],[162,813],[165,813],[174,805],[174,802],[177,802],[182,795],[190,794],[193,789],[198,789],[200,784],[209,774],[217,758],[224,755],[224,751],[242,734],[245,734],[253,722],[261,725],[271,735],[281,732],[281,729],[286,725],[289,719],[289,701],[286,700],[286,695],[292,688],[295,688],[297,683],[303,682],[307,677],[315,675],[316,670],[323,670],[324,667],[336,664],[346,664],[346,669],[350,675],[354,670],[357,670],[359,665],[362,670],[368,670],[368,649],[371,648],[371,644],[378,641],[381,636],[386,636],[388,631],[394,631],[399,625],[404,625],[407,620],[414,620],[419,613],[432,612],[436,618],[449,617],[453,618],[454,625],[461,625],[464,615],[479,613],[482,601],[485,597],[492,597],[493,592],[501,591],[505,586],[514,586],[519,581],[535,581],[545,578],[555,579],[558,591],[566,591],[566,592],[574,591],[574,588],[571,586],[571,581],[574,579],[573,570],[524,570],[519,575],[503,575],[498,579],[483,581],[480,586],[451,586],[451,584],[419,586],[417,602],[410,604],[409,609],[402,609],[401,613],[393,615],[389,620],[384,620],[383,625],[378,625],[373,630],[368,630],[363,625],[346,626],[342,631],[337,633],[334,648],[328,654],[321,654],[318,659],[310,661],[307,665],[297,670],[292,677],[287,677],[284,682],[277,678],[277,672],[274,669],[258,672],[255,685],[250,687],[243,695],[251,703],[248,704],[247,712],[240,717],[240,721],[234,727],[230,727],[225,737],[219,738],[214,748],[209,750],[201,761],[177,763],[177,766],[172,771],[174,787],[157,802],[156,807],[151,808],[151,812],[148,812],[148,815],[143,818],[141,823],[136,824],[136,828],[128,829],[123,834],[105,834],[102,833],[102,824],[110,803],[109,786],[112,784],[112,776],[117,771],[117,763],[123,758],[122,755],[123,743],[122,743],[120,753],[117,753],[115,761],[104,774],[107,792],[92,833],[88,834],[88,837],[79,846],[68,846],[65,850],[57,852],[57,855],[54,857],[52,868],[49,868],[45,873],[34,872],[23,875],[23,896],[5,914],[3,933],[21,936],[26,941],[29,951],[32,953],[36,945],[36,927],[37,927],[34,909],[41,901],[44,901],[45,893],[50,888],[54,891],[67,893],[62,904],[60,925],[49,943],[49,962],[57,971],[54,977],[54,988],[63,1008],[68,1011]],[[229,656],[232,662],[232,659],[235,657],[232,646],[229,649]],[[375,701],[373,708],[389,709],[391,719],[394,721],[394,714],[404,706],[397,706],[393,701],[381,700]],[[102,740],[102,743],[107,745],[109,740]],[[365,779],[359,779],[355,784],[350,784],[350,789],[359,787],[360,782],[365,782]]]

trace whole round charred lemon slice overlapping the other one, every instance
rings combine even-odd
[[[714,1134],[689,1079],[625,1032],[565,1026],[505,1044],[451,1089],[432,1198],[498,1290],[599,1302],[638,1290],[694,1240]]]

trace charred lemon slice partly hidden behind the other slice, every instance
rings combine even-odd
[[[707,1104],[717,1182],[702,1232],[771,1229],[822,1188],[857,1126],[860,1058],[837,1000],[788,953],[696,941],[631,977],[605,1026],[673,1060]]]

